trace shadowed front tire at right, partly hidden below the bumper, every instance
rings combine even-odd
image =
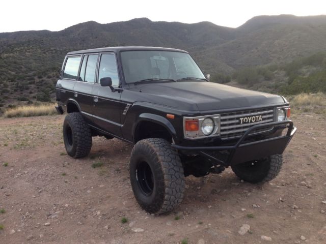
[[[281,171],[283,156],[271,155],[265,159],[254,160],[231,166],[233,172],[250,183],[267,182],[274,179]]]

